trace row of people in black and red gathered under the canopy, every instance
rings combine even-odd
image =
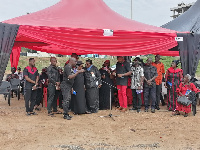
[[[155,113],[156,109],[160,109],[160,100],[165,105],[161,98],[164,81],[167,88],[167,109],[173,111],[173,115],[179,115],[179,111],[183,111],[187,117],[191,112],[191,105],[183,106],[177,103],[177,97],[186,95],[187,90],[196,93],[200,90],[190,83],[190,75],[183,77],[183,71],[178,68],[180,63],[178,60],[174,60],[165,72],[160,59],[160,55],[156,55],[155,62],[152,58],[148,58],[144,63],[136,57],[130,64],[123,56],[118,56],[116,69],[112,70],[109,60],[98,69],[90,59],[86,60],[84,66],[84,63],[79,61],[78,55],[73,53],[66,62],[64,70],[58,68],[57,59],[51,57],[50,66],[39,76],[35,60],[30,58],[29,66],[23,71],[27,115],[34,115],[36,114],[34,109],[39,109],[38,99],[42,100],[42,90],[38,87],[43,86],[48,89],[49,116],[63,113],[64,119],[71,120],[69,111],[77,115],[97,113],[99,109],[109,109],[110,100],[113,100],[115,95],[119,102],[117,109],[125,112],[128,110],[127,89],[131,89],[129,91],[132,95],[133,108],[130,111],[141,112],[143,99],[145,112],[151,107],[151,112]],[[128,81],[130,81],[129,86]],[[39,92],[40,94],[37,94]],[[63,112],[57,110],[58,98],[59,107],[63,108]]]

